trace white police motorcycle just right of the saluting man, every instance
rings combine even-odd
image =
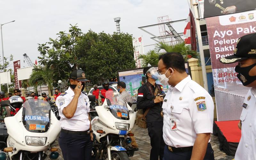
[[[128,133],[134,126],[136,112],[120,99],[120,93],[107,91],[102,106],[95,107],[98,116],[92,119],[93,152],[92,157],[104,160],[129,160],[134,150],[128,148],[132,142]]]

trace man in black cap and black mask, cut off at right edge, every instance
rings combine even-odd
[[[256,159],[256,34],[249,34],[238,39],[235,54],[220,59],[221,63],[238,62],[235,71],[246,87],[252,87],[245,96],[240,116],[239,128],[242,137],[236,150],[236,160]]]

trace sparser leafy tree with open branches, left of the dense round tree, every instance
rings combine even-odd
[[[49,78],[53,80],[53,86],[58,86],[58,80],[67,79],[72,68],[77,67],[74,47],[82,32],[76,25],[70,26],[68,33],[60,31],[56,39],[49,38],[50,42],[38,44],[37,49],[41,55],[38,62],[52,69]]]

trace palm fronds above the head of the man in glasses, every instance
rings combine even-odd
[[[147,54],[141,54],[139,56],[139,59],[142,59],[142,67],[147,67],[148,64],[156,66],[159,56],[166,52],[179,52],[183,55],[185,61],[189,58],[200,59],[199,54],[196,51],[191,50],[190,45],[186,45],[185,43],[170,45],[169,43],[160,42],[159,44],[156,44],[154,50],[150,50]]]

